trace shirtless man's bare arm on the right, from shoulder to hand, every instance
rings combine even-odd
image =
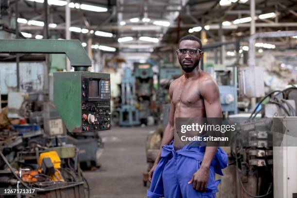
[[[204,99],[207,117],[221,117],[221,102],[217,84],[213,79],[207,79],[199,85],[199,91]],[[206,191],[209,178],[209,168],[214,159],[217,147],[206,147],[203,161],[198,171],[193,175],[188,184],[193,182],[193,188],[198,191]]]

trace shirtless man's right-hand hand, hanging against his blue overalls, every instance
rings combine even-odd
[[[209,178],[209,167],[200,167],[196,173],[194,173],[192,179],[188,184],[193,183],[193,188],[200,192],[206,192],[207,183]]]

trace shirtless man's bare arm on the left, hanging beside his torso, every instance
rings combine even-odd
[[[161,158],[161,152],[162,152],[162,147],[164,145],[168,145],[171,140],[173,139],[173,136],[174,136],[174,113],[175,113],[175,106],[172,102],[172,96],[173,96],[173,89],[174,89],[174,82],[172,82],[170,84],[170,87],[169,87],[169,97],[170,97],[170,111],[169,111],[169,122],[165,128],[165,131],[163,132],[163,139],[161,141],[161,147],[158,151],[158,154],[157,154],[157,158],[155,160],[155,163],[153,165],[153,167],[151,168],[151,170],[148,172],[148,181],[151,181],[152,179],[152,174],[153,174],[153,171],[155,170],[156,166],[158,165],[159,161],[160,161],[160,158]]]

